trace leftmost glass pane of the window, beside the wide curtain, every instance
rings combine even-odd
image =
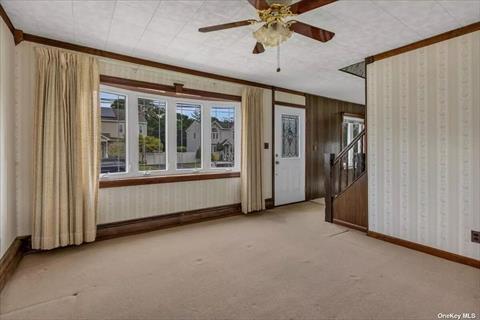
[[[100,92],[102,173],[126,171],[125,105],[124,95]]]

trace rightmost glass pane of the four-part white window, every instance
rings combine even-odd
[[[235,108],[212,107],[212,167],[235,166]]]

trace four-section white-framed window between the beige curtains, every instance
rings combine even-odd
[[[240,170],[240,103],[101,85],[102,178]]]

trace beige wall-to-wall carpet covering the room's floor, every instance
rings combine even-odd
[[[2,319],[437,319],[480,271],[323,222],[301,203],[26,256]]]

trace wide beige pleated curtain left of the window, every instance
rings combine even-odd
[[[32,247],[95,240],[99,176],[98,63],[36,48]]]

